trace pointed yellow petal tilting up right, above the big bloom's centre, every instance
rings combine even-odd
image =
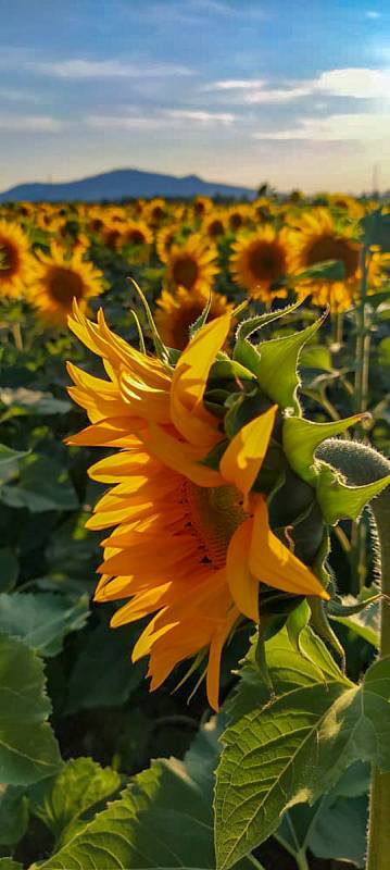
[[[268,449],[277,405],[251,420],[235,435],[224,452],[219,469],[225,481],[232,483],[244,500],[254,484]]]

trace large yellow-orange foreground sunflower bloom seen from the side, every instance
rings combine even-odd
[[[209,655],[207,696],[215,709],[224,644],[243,618],[259,622],[260,582],[328,597],[271,530],[266,500],[252,492],[276,406],[230,440],[219,470],[200,462],[225,444],[203,397],[230,322],[224,314],[203,326],[172,369],[113,334],[101,311],[96,324],[75,303],[70,319],[109,377],[68,365],[71,395],[91,421],[68,443],[115,449],[89,470],[92,480],[113,485],[87,523],[113,529],[102,544],[96,599],[128,599],[114,627],[150,617],[133,660],[149,656],[152,689],[178,662]]]

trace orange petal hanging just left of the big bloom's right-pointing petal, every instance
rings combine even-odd
[[[259,580],[248,567],[252,531],[253,520],[246,520],[232,535],[226,556],[226,576],[240,612],[259,622]]]

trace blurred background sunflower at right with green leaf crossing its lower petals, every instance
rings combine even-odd
[[[350,308],[357,291],[361,245],[354,233],[353,225],[338,224],[329,209],[316,208],[300,216],[299,226],[289,236],[295,272],[326,260],[340,260],[343,264],[342,281],[317,278],[304,284],[317,304],[329,303],[334,311]]]

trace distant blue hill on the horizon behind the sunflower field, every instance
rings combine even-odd
[[[96,202],[101,199],[118,200],[125,197],[193,197],[217,195],[223,197],[253,198],[254,190],[248,187],[234,187],[219,182],[204,182],[198,175],[160,175],[140,170],[113,170],[78,182],[61,184],[18,184],[0,194],[0,202],[59,202],[80,200]]]

